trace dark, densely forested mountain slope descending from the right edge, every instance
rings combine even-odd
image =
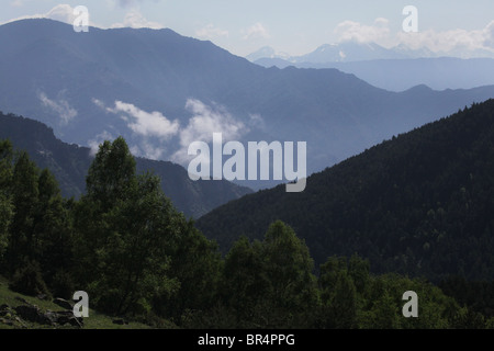
[[[353,253],[375,272],[494,278],[494,100],[383,141],[308,177],[246,195],[197,225],[226,252],[283,220],[317,263]]]

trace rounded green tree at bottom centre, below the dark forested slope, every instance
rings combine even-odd
[[[261,242],[240,238],[223,270],[222,296],[236,327],[308,327],[318,303],[313,269],[305,244],[281,222]]]

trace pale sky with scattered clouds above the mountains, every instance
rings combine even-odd
[[[374,42],[433,52],[494,50],[494,1],[447,0],[0,0],[0,23],[50,18],[72,23],[87,7],[90,25],[168,27],[207,39],[238,56],[271,46],[296,56],[323,44]],[[417,9],[417,32],[405,32],[403,9]]]

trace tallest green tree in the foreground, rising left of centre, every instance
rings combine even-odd
[[[123,138],[100,146],[87,181],[76,213],[79,283],[103,310],[146,312],[155,292],[175,285],[166,252],[175,210],[159,179],[135,174]]]

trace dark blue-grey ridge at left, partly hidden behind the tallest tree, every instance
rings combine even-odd
[[[0,112],[0,139],[9,139],[15,149],[25,150],[37,167],[49,169],[65,197],[78,199],[86,192],[86,176],[93,160],[90,148],[57,139],[41,122]],[[150,171],[161,179],[161,189],[173,205],[188,217],[200,217],[251,190],[227,181],[191,181],[187,170],[169,161],[136,158],[138,172]]]

